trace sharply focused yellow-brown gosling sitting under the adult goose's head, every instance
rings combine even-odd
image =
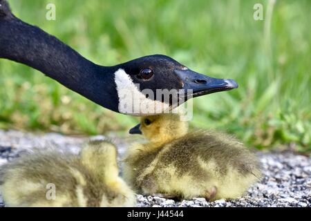
[[[198,130],[188,133],[180,115],[142,117],[130,133],[146,144],[133,144],[124,160],[124,178],[142,194],[209,200],[241,197],[261,177],[252,154],[229,135]]]

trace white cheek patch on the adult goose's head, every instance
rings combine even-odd
[[[115,85],[119,97],[119,112],[129,115],[152,115],[169,110],[169,104],[153,99],[152,90],[144,89],[148,98],[139,90],[139,84],[134,84],[123,69],[115,72]]]

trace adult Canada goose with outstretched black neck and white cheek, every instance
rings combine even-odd
[[[164,55],[99,66],[40,28],[15,17],[6,0],[0,0],[0,58],[26,64],[111,111],[129,115],[162,113],[191,97],[238,87],[232,79],[201,75]],[[144,89],[154,96],[146,95]],[[176,89],[177,99],[164,100],[156,96],[157,89]],[[144,106],[137,105],[142,103],[157,108],[146,111]]]

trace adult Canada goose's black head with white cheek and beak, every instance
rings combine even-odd
[[[118,112],[155,115],[191,97],[237,88],[232,79],[216,79],[190,70],[164,55],[140,57],[113,67]]]

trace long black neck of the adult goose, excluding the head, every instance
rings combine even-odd
[[[113,67],[97,66],[40,28],[17,19],[0,0],[0,58],[35,68],[93,102],[117,111]],[[110,92],[110,93],[108,93]]]

